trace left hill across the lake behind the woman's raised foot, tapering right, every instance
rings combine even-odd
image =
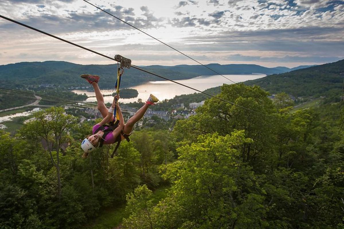
[[[149,69],[148,69],[149,70]],[[83,73],[101,77],[99,87],[112,88],[116,81],[117,65],[79,65],[64,61],[21,62],[0,66],[0,82],[7,88],[36,89],[41,84],[54,84],[61,88],[85,87],[84,80],[79,76]],[[178,80],[193,78],[196,74],[181,73],[168,69],[156,69],[155,73]],[[125,69],[121,85],[128,87],[142,82],[159,80],[148,73],[130,68]]]

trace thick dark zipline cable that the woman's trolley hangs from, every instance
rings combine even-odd
[[[57,36],[55,36],[55,35],[52,35],[52,34],[50,34],[50,33],[47,33],[47,32],[44,32],[44,31],[42,31],[42,30],[39,30],[39,29],[37,29],[37,28],[34,28],[34,27],[32,27],[32,26],[29,26],[29,25],[23,24],[23,23],[21,23],[21,22],[15,21],[15,20],[13,20],[13,19],[7,18],[6,16],[0,15],[0,18],[3,18],[3,19],[5,19],[5,20],[8,20],[8,21],[11,21],[11,22],[13,22],[13,23],[16,23],[16,24],[18,24],[18,25],[22,25],[22,26],[24,26],[24,27],[30,28],[30,29],[32,29],[32,30],[34,30],[34,31],[37,31],[37,32],[43,33],[43,34],[45,34],[45,35],[48,35],[48,36],[54,37],[54,38],[56,38],[56,39],[58,39],[58,40],[60,40],[60,41],[66,42],[66,43],[68,43],[68,44],[71,44],[71,45],[77,46],[77,47],[79,47],[79,48],[82,48],[82,49],[85,49],[85,50],[87,50],[87,51],[90,51],[90,52],[92,52],[92,53],[95,53],[95,54],[97,54],[97,55],[100,55],[100,56],[106,57],[106,58],[108,58],[108,59],[110,59],[110,60],[114,60],[114,61],[116,61],[114,58],[111,58],[111,57],[109,57],[109,56],[106,56],[106,55],[104,55],[104,54],[98,53],[97,51],[94,51],[94,50],[92,50],[92,49],[89,49],[89,48],[85,48],[85,47],[83,47],[83,46],[81,46],[81,45],[78,45],[78,44],[75,44],[75,43],[73,43],[73,42],[67,41],[67,40],[65,40],[65,39],[62,39],[62,38],[60,38],[60,37],[57,37]],[[256,113],[256,114],[259,114],[259,115],[262,115],[262,116],[266,116],[266,117],[267,117],[267,115],[265,115],[265,114],[262,114],[262,113],[260,113],[260,112],[257,112],[257,111],[251,110],[251,109],[249,109],[249,108],[246,108],[246,107],[244,107],[244,106],[238,105],[238,104],[236,104],[236,103],[233,103],[233,102],[230,102],[230,101],[224,100],[224,99],[222,99],[222,98],[219,98],[219,97],[217,97],[217,96],[215,96],[215,95],[211,95],[211,94],[208,94],[208,93],[206,93],[206,92],[203,92],[203,91],[200,91],[200,90],[194,89],[194,88],[192,88],[192,87],[189,87],[189,86],[187,86],[187,85],[185,85],[185,84],[178,83],[178,82],[176,82],[176,81],[173,81],[173,80],[171,80],[171,79],[168,79],[168,78],[166,78],[166,77],[163,77],[163,76],[160,76],[160,75],[158,75],[158,74],[155,74],[155,73],[153,73],[153,72],[150,72],[150,71],[144,70],[144,69],[142,69],[142,68],[139,68],[139,67],[137,67],[137,66],[135,66],[135,65],[131,65],[131,67],[133,67],[133,68],[136,68],[136,69],[138,69],[138,70],[140,70],[140,71],[147,72],[147,73],[149,73],[149,74],[151,74],[151,75],[154,75],[154,76],[160,77],[160,78],[162,78],[162,79],[165,79],[165,80],[171,81],[171,82],[173,82],[173,83],[177,83],[177,84],[179,84],[179,85],[182,85],[182,86],[184,86],[184,87],[186,87],[186,88],[190,88],[190,89],[192,89],[192,90],[195,90],[195,91],[201,92],[201,93],[203,93],[203,94],[206,94],[206,95],[208,95],[208,96],[211,96],[211,97],[213,97],[213,98],[215,98],[215,99],[218,99],[218,100],[221,100],[221,101],[223,101],[223,102],[227,102],[227,103],[230,103],[230,104],[232,104],[232,105],[235,105],[235,106],[241,107],[241,108],[243,108],[243,109],[245,109],[245,110],[247,110],[247,111],[251,111],[251,112],[254,112],[254,113]]]

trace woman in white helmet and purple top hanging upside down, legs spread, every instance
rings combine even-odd
[[[80,77],[86,79],[90,84],[92,84],[94,88],[94,92],[96,93],[96,99],[97,99],[97,104],[98,104],[97,108],[100,111],[101,115],[103,116],[103,120],[101,120],[100,123],[93,126],[92,135],[85,138],[81,144],[81,148],[85,152],[83,154],[84,158],[88,156],[89,152],[94,150],[99,145],[99,142],[101,141],[104,135],[104,131],[108,129],[108,127],[103,127],[103,126],[115,120],[115,117],[113,114],[115,110],[115,106],[116,106],[118,116],[119,116],[119,120],[118,120],[119,125],[114,130],[106,134],[105,138],[103,138],[104,139],[103,144],[113,144],[117,142],[119,135],[122,140],[128,138],[128,136],[131,134],[131,131],[134,127],[134,124],[137,123],[143,117],[148,107],[150,105],[154,105],[154,103],[159,101],[154,95],[151,94],[146,104],[144,104],[135,113],[135,115],[132,116],[126,124],[124,124],[123,115],[118,104],[119,95],[114,96],[114,100],[112,101],[111,107],[107,109],[104,103],[103,95],[101,94],[100,89],[98,87],[98,81],[100,77],[96,75],[88,75],[88,74],[81,75]]]

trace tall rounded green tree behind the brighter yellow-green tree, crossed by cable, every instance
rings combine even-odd
[[[215,98],[206,100],[197,108],[196,115],[177,122],[173,129],[176,140],[195,142],[199,135],[218,133],[225,136],[234,130],[244,130],[245,136],[254,141],[241,147],[243,161],[256,165],[255,169],[265,170],[259,165],[273,153],[274,127],[278,125],[276,108],[267,97],[268,92],[256,86],[224,84],[218,96],[238,106]]]

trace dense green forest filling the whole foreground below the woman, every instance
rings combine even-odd
[[[340,102],[294,110],[268,95],[225,84],[218,96],[250,111],[207,99],[174,126],[137,129],[113,159],[113,145],[81,157],[94,123],[36,112],[0,130],[0,228],[85,228],[123,203],[123,228],[343,228]]]

